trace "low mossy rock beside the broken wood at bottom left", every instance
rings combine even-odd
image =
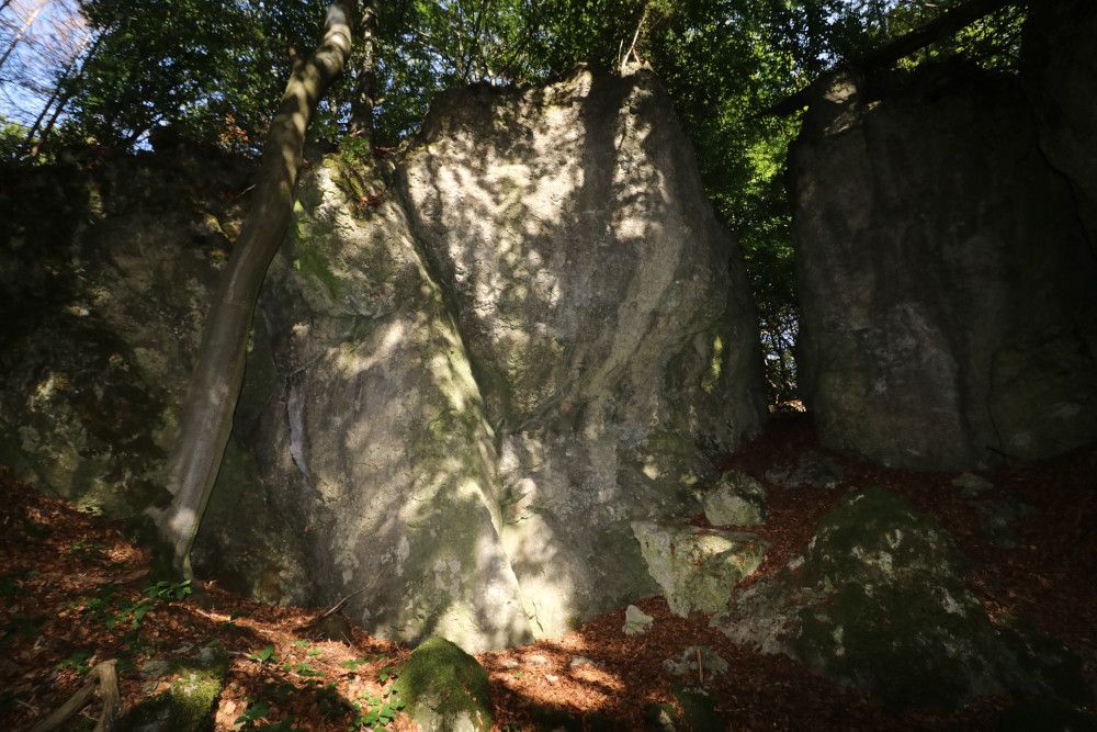
[[[213,729],[213,710],[225,685],[228,654],[208,645],[191,658],[170,662],[179,678],[167,691],[142,701],[118,722],[120,732],[205,732]]]

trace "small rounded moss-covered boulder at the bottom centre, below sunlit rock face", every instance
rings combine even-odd
[[[487,671],[444,638],[419,645],[394,688],[425,732],[486,732],[491,727]]]

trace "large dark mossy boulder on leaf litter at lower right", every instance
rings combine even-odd
[[[948,533],[883,488],[826,515],[804,556],[736,594],[713,623],[892,707],[1076,692],[1061,684],[1074,674],[1063,650],[1031,653],[1036,643],[993,624]]]

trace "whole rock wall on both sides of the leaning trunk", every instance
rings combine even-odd
[[[631,522],[698,514],[762,413],[742,258],[660,85],[453,92],[385,174],[303,177],[197,572],[470,651],[657,593]],[[246,169],[178,146],[33,176],[2,202],[0,459],[134,516],[168,498]]]

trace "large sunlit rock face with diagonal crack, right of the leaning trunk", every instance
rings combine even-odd
[[[455,92],[426,129],[400,193],[335,158],[303,182],[237,415],[252,487],[220,481],[195,561],[479,650],[658,592],[631,522],[699,513],[759,363],[651,77]]]

